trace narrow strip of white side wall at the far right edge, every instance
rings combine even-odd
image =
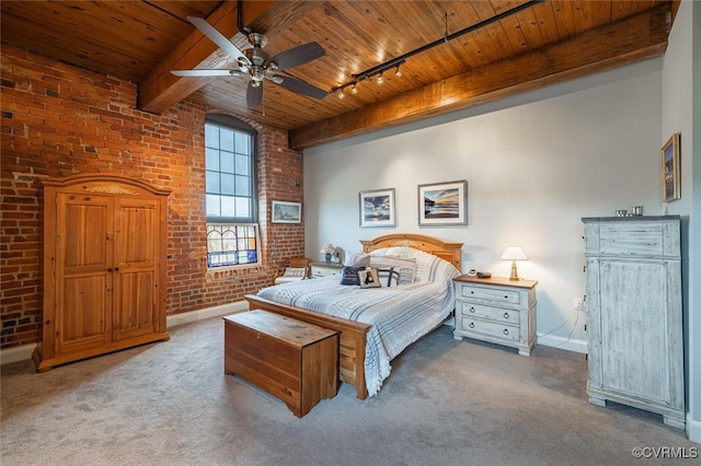
[[[681,133],[681,199],[668,212],[680,214],[687,380],[687,434],[701,443],[701,4],[681,1],[669,33],[663,67],[660,143]],[[696,142],[694,144],[694,141]]]

